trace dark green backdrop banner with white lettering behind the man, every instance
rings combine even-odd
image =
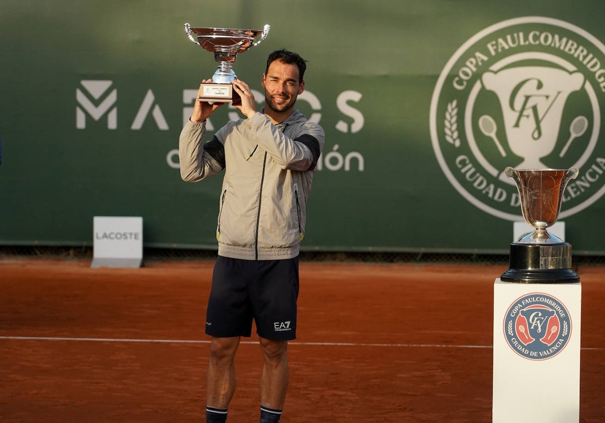
[[[506,253],[523,218],[505,167],[576,166],[566,241],[603,253],[603,16],[592,0],[4,0],[0,244],[91,245],[93,216],[142,216],[147,247],[215,248],[221,178],[181,181],[177,149],[216,63],[183,25],[269,24],[234,69],[260,103],[270,51],[309,61],[298,108],[326,144],[303,249]]]

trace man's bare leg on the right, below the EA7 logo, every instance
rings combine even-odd
[[[259,337],[263,351],[263,371],[259,384],[261,422],[278,422],[286,401],[289,371],[288,341]]]

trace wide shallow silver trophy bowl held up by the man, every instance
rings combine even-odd
[[[259,45],[269,34],[269,25],[263,30],[240,30],[232,28],[192,28],[185,24],[185,33],[195,44],[214,53],[218,69],[211,83],[202,83],[203,95],[198,100],[211,103],[238,103],[240,95],[233,89],[237,77],[232,69],[235,56],[250,47]],[[260,39],[256,41],[257,37]]]

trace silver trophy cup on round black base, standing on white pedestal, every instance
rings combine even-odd
[[[515,181],[523,218],[534,231],[511,244],[510,268],[500,277],[505,282],[572,283],[580,277],[571,270],[571,244],[546,230],[561,211],[567,182],[578,169],[520,169],[507,167]]]

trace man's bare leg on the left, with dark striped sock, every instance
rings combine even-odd
[[[206,373],[206,421],[224,421],[235,393],[235,353],[240,337],[212,337]],[[224,417],[224,419],[223,419]]]

